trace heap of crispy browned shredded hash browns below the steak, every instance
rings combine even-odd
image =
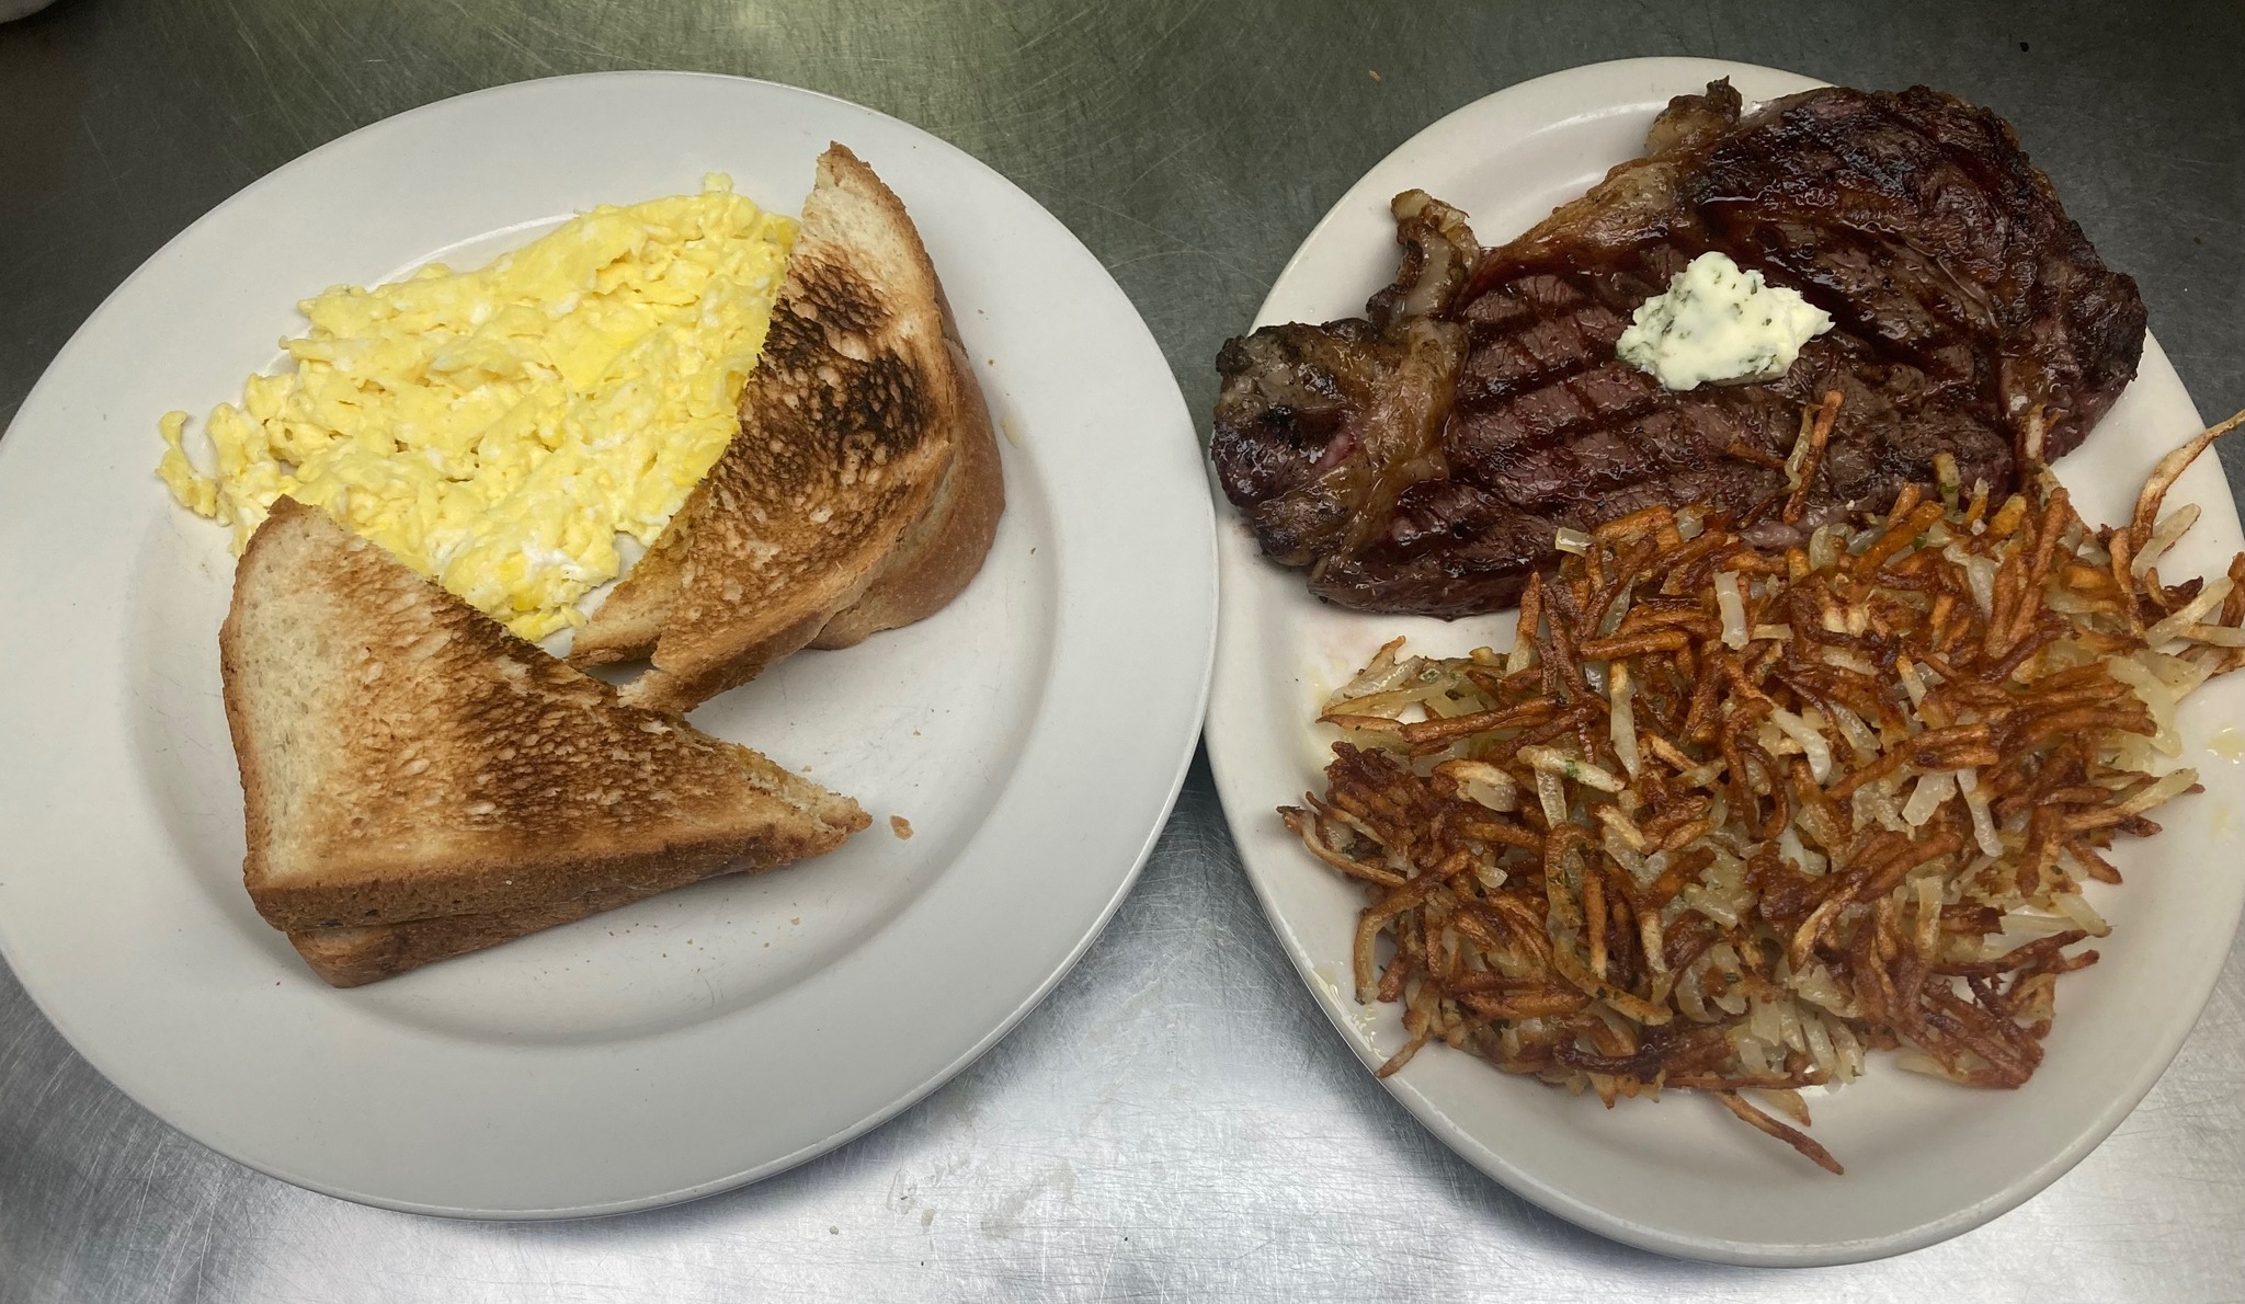
[[[1832,395],[1836,400],[1836,395]],[[1827,400],[1803,422],[1830,426]],[[2245,554],[2164,584],[2162,514],[2225,422],[2088,527],[2045,474],[1760,550],[1648,507],[1531,579],[1509,655],[1390,642],[1327,702],[1325,797],[1280,815],[1365,882],[1356,999],[1410,1041],[1607,1106],[1706,1091],[1830,1172],[1800,1086],[1863,1053],[1969,1086],[2043,1057],[2056,979],[2110,929],[2083,880],[2196,792],[2175,702],[2245,664]]]

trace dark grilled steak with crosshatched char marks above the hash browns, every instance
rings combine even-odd
[[[1224,346],[1212,456],[1264,552],[1343,606],[1495,610],[1558,527],[1652,503],[1767,512],[1827,391],[1843,402],[1800,525],[1884,509],[1940,453],[2007,494],[2135,375],[2135,283],[1989,110],[1832,88],[1742,119],[1713,83],[1646,150],[1484,254],[1455,209],[1401,195],[1403,269],[1369,319]],[[1832,314],[1780,379],[1675,393],[1614,357],[1708,249]]]

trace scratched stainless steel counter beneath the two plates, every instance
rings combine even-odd
[[[981,155],[1107,260],[1206,411],[1217,343],[1363,168],[1479,94],[1632,54],[2000,108],[2142,281],[2200,408],[2245,406],[2245,7],[1877,9],[61,0],[0,27],[0,422],[117,281],[260,173],[431,99],[599,67],[790,81]],[[842,1151],[653,1214],[476,1225],[274,1183],[123,1100],[0,974],[0,1302],[2238,1300],[2241,1082],[2234,954],[2119,1133],[1978,1232],[1800,1273],[1628,1250],[1482,1178],[1356,1066],[1201,765],[1114,927],[983,1062]]]

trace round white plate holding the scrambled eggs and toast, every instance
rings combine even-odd
[[[1006,518],[941,615],[806,651],[696,714],[873,828],[388,983],[312,979],[240,887],[218,698],[224,530],[155,420],[276,366],[294,303],[480,260],[595,202],[730,171],[795,211],[828,139],[905,198],[1006,440]],[[1116,485],[1129,485],[1116,494]],[[1212,516],[1170,368],[1098,260],[965,153],[819,94],[599,74],[323,146],[150,258],[0,442],[0,954],[97,1068],[247,1165],[339,1196],[570,1216],[732,1187],[911,1104],[1051,990],[1192,756]],[[905,815],[916,837],[891,835]],[[4,1109],[4,1104],[0,1104]]]

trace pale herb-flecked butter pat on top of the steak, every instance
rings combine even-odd
[[[1688,391],[1778,379],[1827,330],[1832,319],[1798,292],[1729,254],[1702,254],[1668,281],[1668,294],[1639,305],[1614,352],[1666,388]]]

